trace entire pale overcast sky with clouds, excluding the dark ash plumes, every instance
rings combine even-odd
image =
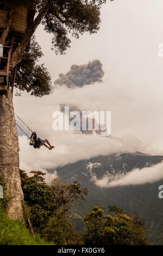
[[[84,34],[72,40],[64,56],[51,51],[52,36],[40,26],[36,38],[42,47],[52,83],[73,64],[99,59],[105,72],[102,83],[82,88],[56,87],[49,96],[37,99],[28,93],[14,97],[15,112],[41,138],[56,148],[39,150],[19,137],[20,167],[26,170],[57,167],[92,156],[135,150],[163,155],[163,43],[162,0],[107,1],[101,13],[101,29],[95,35]],[[79,109],[111,111],[111,134],[103,138],[73,131],[53,131],[52,113],[59,105]]]

